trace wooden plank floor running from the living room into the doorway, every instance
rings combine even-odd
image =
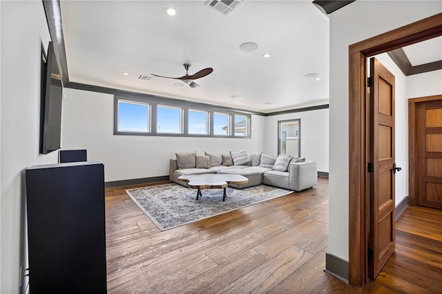
[[[328,180],[161,232],[106,189],[108,293],[442,293],[442,210],[407,208],[396,253],[364,288],[323,272]]]

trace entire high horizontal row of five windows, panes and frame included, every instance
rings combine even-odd
[[[151,95],[114,96],[114,135],[251,137],[251,114]]]

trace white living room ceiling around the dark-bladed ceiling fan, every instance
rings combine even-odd
[[[61,1],[70,81],[261,112],[328,103],[329,19],[310,0],[242,1],[227,16],[205,3]],[[244,42],[258,49],[243,52]],[[213,73],[196,89],[137,79],[181,77],[183,63]]]

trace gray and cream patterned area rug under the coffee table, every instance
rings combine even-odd
[[[222,202],[222,189],[201,190],[202,197],[198,201],[196,191],[172,183],[130,189],[126,193],[165,231],[293,192],[266,185],[243,189],[227,187],[227,199]]]

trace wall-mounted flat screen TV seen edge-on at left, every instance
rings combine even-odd
[[[41,60],[40,153],[48,154],[61,148],[61,103],[63,84],[52,42],[46,61]]]

